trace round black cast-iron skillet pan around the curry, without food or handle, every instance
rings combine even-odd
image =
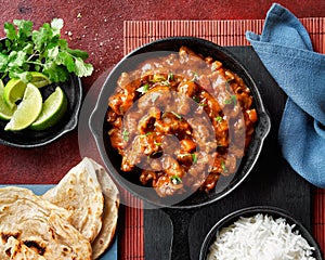
[[[216,60],[221,61],[225,67],[230,68],[232,72],[242,77],[251,90],[259,120],[256,126],[256,132],[252,142],[246,153],[246,156],[242,159],[239,169],[230,178],[223,178],[223,180],[221,178],[217,184],[217,188],[213,192],[209,194],[196,192],[186,198],[178,198],[177,196],[172,196],[172,198],[160,198],[156,195],[154,188],[144,187],[141,184],[134,183],[134,180],[123,177],[122,172],[120,171],[121,157],[118,155],[117,151],[112,147],[109,138],[107,135],[107,131],[110,127],[105,120],[105,115],[107,113],[107,100],[114,93],[117,79],[119,78],[121,73],[135,68],[136,65],[139,65],[146,58],[161,55],[164,53],[170,54],[170,52],[178,52],[180,47],[182,46],[192,49],[195,53],[202,54],[204,56],[211,56]],[[101,153],[103,161],[113,178],[133,195],[148,202],[151,205],[156,205],[159,207],[168,206],[191,208],[203,206],[216,202],[229,194],[236,186],[238,186],[239,183],[242,183],[251,171],[261,152],[263,140],[270,131],[270,118],[264,109],[257,84],[249,75],[249,72],[236,60],[236,57],[231,52],[229,52],[224,48],[217,46],[210,41],[193,37],[160,39],[145,44],[123,57],[106,78],[101,90],[96,106],[90,118],[90,129],[96,141],[96,145]]]

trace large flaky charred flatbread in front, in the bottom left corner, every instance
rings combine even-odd
[[[0,259],[91,260],[89,240],[68,218],[27,188],[0,188]]]

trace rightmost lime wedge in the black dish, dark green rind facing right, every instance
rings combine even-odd
[[[67,109],[67,99],[60,87],[44,101],[42,112],[29,127],[32,130],[46,130],[62,119]]]

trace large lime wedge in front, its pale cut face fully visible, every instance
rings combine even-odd
[[[4,130],[18,131],[29,127],[42,109],[42,95],[37,87],[27,83],[24,98]]]

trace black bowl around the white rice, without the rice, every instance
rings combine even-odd
[[[286,223],[288,223],[289,225],[295,225],[292,231],[294,232],[298,231],[298,233],[308,242],[308,244],[311,247],[315,248],[312,257],[314,257],[317,260],[323,259],[321,249],[320,249],[317,243],[315,242],[315,239],[313,238],[313,236],[299,221],[294,219],[288,212],[286,212],[283,209],[276,208],[276,207],[256,206],[256,207],[239,209],[235,212],[227,214],[220,221],[218,221],[217,224],[207,234],[207,236],[203,243],[200,253],[199,253],[199,260],[207,259],[207,256],[209,253],[209,248],[216,240],[217,233],[222,227],[230,226],[235,221],[237,221],[240,217],[250,218],[250,217],[256,216],[257,213],[268,214],[268,216],[273,217],[273,219],[283,218],[286,220]]]

